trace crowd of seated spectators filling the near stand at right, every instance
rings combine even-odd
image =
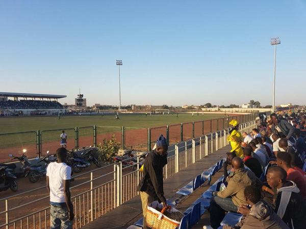
[[[305,120],[301,111],[272,113],[250,134],[240,134],[232,122],[236,138],[229,139],[237,144],[241,136],[243,155],[237,147],[226,154],[223,183],[210,203],[211,225],[203,228],[219,228],[230,211],[243,217],[223,228],[306,228]]]

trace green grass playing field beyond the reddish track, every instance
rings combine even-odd
[[[84,126],[125,126],[125,127],[158,127],[179,123],[196,122],[202,120],[223,118],[222,114],[204,114],[201,113],[192,117],[191,113],[180,113],[179,118],[176,115],[120,115],[120,120],[116,121],[114,116],[67,116],[62,117],[15,117],[0,119],[0,133],[65,129]]]

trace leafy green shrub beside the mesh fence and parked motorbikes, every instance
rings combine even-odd
[[[100,142],[97,146],[99,160],[104,162],[111,161],[118,154],[120,147],[120,142],[116,141],[115,135],[112,135],[110,140],[104,138],[103,144]]]

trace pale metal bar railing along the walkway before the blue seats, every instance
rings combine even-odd
[[[241,131],[249,132],[254,127],[256,127],[255,121],[240,124]],[[171,147],[172,149],[169,147],[168,163],[163,171],[164,179],[170,178],[196,161],[226,146],[229,131],[230,128],[225,128],[180,142]],[[124,162],[118,162],[74,177],[80,182],[71,188],[71,199],[75,211],[74,228],[82,227],[139,194],[137,185],[142,177],[139,171],[140,156],[134,157],[134,160],[136,164],[124,166]],[[35,190],[42,188],[45,186]],[[17,195],[33,193],[35,190]],[[0,212],[0,228],[48,228],[50,225],[49,196],[40,195],[29,203],[10,207],[11,201],[13,202],[17,195],[0,199],[5,209]],[[20,214],[22,209],[26,209],[27,214]]]

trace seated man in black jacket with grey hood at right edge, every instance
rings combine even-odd
[[[277,188],[276,214],[291,229],[303,229],[306,225],[306,204],[293,181],[287,181],[286,171],[279,166],[268,169],[267,182],[271,188]]]

